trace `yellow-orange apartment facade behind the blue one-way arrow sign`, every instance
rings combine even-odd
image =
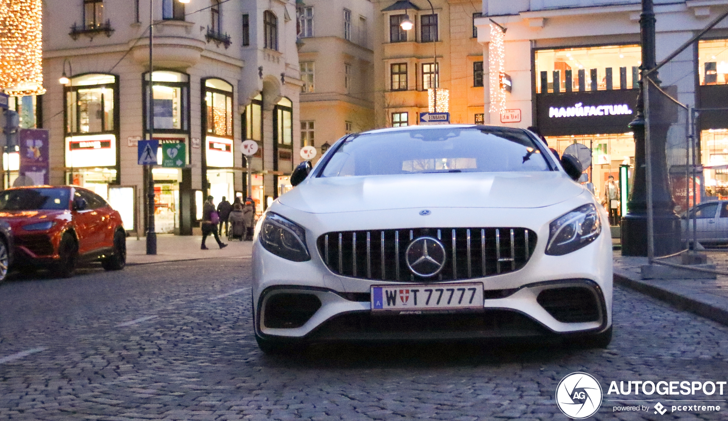
[[[377,127],[418,124],[419,113],[435,111],[435,89],[437,109],[452,123],[483,122],[483,48],[473,24],[480,1],[387,0],[374,8]]]

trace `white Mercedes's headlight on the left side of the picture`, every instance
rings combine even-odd
[[[263,248],[283,259],[311,260],[306,247],[306,231],[277,213],[266,214],[258,238]]]

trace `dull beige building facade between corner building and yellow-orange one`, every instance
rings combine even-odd
[[[344,134],[374,127],[372,10],[369,0],[298,4],[299,127],[314,160]]]

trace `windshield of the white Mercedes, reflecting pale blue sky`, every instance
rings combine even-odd
[[[523,130],[446,127],[350,138],[320,177],[548,170],[539,146]]]

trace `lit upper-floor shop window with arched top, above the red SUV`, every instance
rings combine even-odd
[[[71,78],[66,93],[66,133],[70,135],[114,131],[116,77],[85,74]]]

